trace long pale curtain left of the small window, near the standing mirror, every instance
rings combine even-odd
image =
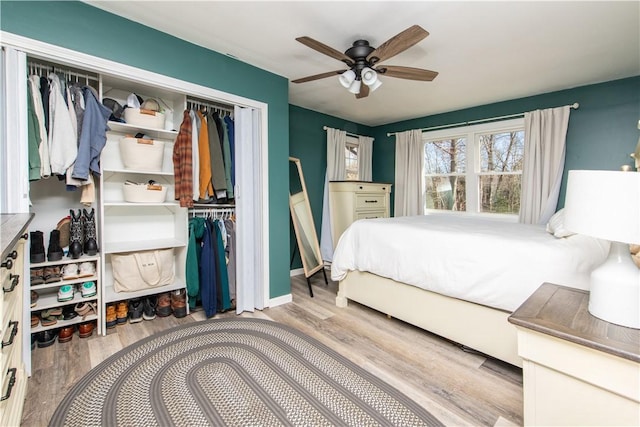
[[[333,260],[333,238],[331,237],[331,210],[329,209],[329,181],[341,181],[346,177],[344,150],[347,132],[327,128],[327,172],[324,176],[322,201],[322,228],[320,229],[320,252],[326,262]]]

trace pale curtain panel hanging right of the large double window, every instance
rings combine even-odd
[[[562,183],[570,107],[524,114],[524,165],[520,218],[524,224],[545,224],[555,213]]]

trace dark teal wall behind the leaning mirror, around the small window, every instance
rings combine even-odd
[[[289,106],[289,155],[300,159],[318,240],[320,240],[322,225],[322,198],[327,168],[327,132],[323,129],[324,126],[357,135],[373,136],[373,130],[368,126],[295,105]],[[293,228],[291,228],[290,236],[291,251],[293,251],[295,245]],[[302,267],[300,257],[296,255],[293,268],[300,267]]]

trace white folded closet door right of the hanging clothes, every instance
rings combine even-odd
[[[266,200],[259,186],[261,167],[260,110],[235,107],[236,237],[238,271],[236,313],[262,310],[265,305],[264,260],[257,256],[266,233]],[[266,155],[266,154],[265,154]],[[265,161],[266,163],[266,161]]]

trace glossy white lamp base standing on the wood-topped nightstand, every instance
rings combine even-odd
[[[629,245],[611,242],[606,261],[591,273],[589,312],[616,325],[640,329],[640,269]]]

